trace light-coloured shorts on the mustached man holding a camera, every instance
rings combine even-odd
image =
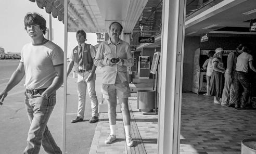
[[[131,96],[131,90],[129,87],[129,82],[125,81],[122,83],[116,84],[102,84],[101,92],[103,94],[103,98],[128,98]]]

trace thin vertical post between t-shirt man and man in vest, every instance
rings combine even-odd
[[[68,0],[64,1],[64,67],[63,67],[63,117],[62,117],[62,153],[66,153],[66,113],[67,113],[67,53],[68,53]]]

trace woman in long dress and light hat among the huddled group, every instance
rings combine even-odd
[[[214,96],[214,103],[221,104],[221,97],[224,87],[224,64],[222,61],[223,49],[221,47],[216,48],[213,55],[212,66],[213,71],[210,80],[209,95]],[[218,100],[219,99],[219,100]]]

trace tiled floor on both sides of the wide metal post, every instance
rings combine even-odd
[[[181,117],[181,154],[238,154],[241,140],[256,137],[256,110],[237,110],[213,104],[212,97],[183,93]],[[158,115],[144,115],[130,98],[133,122],[146,153],[157,153]],[[117,114],[117,142],[105,145],[109,134],[107,113],[100,114],[90,153],[131,153],[124,140],[121,113]],[[136,129],[135,129],[136,130]],[[136,153],[136,150],[134,150]]]

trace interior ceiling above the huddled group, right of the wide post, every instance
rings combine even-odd
[[[250,22],[245,21],[255,19],[256,12],[243,15],[253,9],[256,9],[255,0],[225,0],[215,3],[206,10],[197,11],[196,16],[186,18],[185,35],[195,36],[208,32],[255,34],[249,32]]]

